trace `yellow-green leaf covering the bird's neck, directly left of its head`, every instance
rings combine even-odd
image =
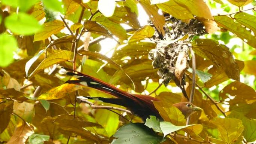
[[[153,101],[153,104],[164,121],[171,122],[177,126],[186,124],[185,116],[178,108],[164,101]]]

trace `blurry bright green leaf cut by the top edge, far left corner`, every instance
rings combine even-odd
[[[3,4],[13,6],[13,7],[19,7],[21,11],[27,11],[30,9],[31,6],[33,6],[35,3],[37,3],[39,0],[1,0]]]

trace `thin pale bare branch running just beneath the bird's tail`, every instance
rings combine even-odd
[[[94,105],[94,103],[86,100],[86,99],[80,99],[80,98],[77,98],[77,102],[83,102],[83,103],[86,103],[86,104],[89,104],[91,106],[91,108],[94,108],[94,109],[111,109],[111,110],[119,110],[119,111],[124,111],[124,112],[127,112],[127,113],[131,113],[131,111],[129,110],[125,110],[123,108],[119,108],[119,107],[112,107],[112,106],[105,106],[105,105]]]

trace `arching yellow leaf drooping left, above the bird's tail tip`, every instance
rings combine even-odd
[[[40,70],[47,68],[51,65],[58,64],[60,62],[72,60],[73,52],[68,50],[62,50],[53,55],[50,55],[48,58],[44,59],[37,68],[30,74],[29,77],[32,77],[34,74],[38,73]]]

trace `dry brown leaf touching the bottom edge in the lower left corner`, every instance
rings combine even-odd
[[[24,123],[21,126],[18,126],[13,132],[12,137],[7,144],[24,144],[30,135],[34,133],[33,126]]]

